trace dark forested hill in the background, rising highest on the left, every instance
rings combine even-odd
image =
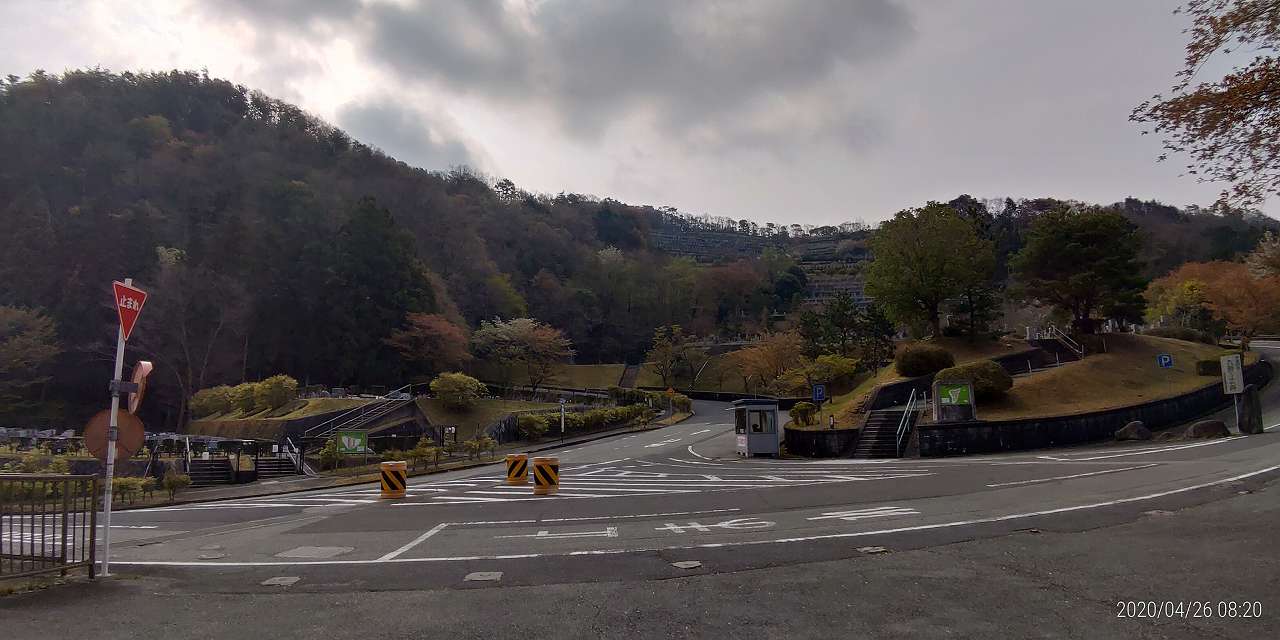
[[[160,428],[214,384],[421,375],[387,343],[411,314],[462,339],[481,320],[531,316],[563,330],[579,362],[635,362],[667,324],[753,334],[804,291],[804,273],[776,251],[788,236],[863,230],[692,219],[417,169],[293,105],[189,72],[10,77],[0,82],[0,311],[38,310],[59,349],[47,384],[20,397],[0,385],[0,415],[68,422],[105,399],[108,292],[122,276],[154,294],[129,360],[156,361],[148,425]],[[954,206],[982,206],[1005,225],[1007,255],[1052,202]],[[1124,206],[1158,239],[1147,248],[1152,275],[1229,257],[1260,234],[1243,216]],[[712,265],[658,251],[663,237],[701,232],[746,248]],[[856,248],[829,244],[832,255]]]

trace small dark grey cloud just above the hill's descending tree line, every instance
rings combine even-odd
[[[481,166],[479,155],[453,123],[433,119],[394,99],[343,105],[338,109],[338,125],[356,140],[378,141],[384,152],[415,166]]]

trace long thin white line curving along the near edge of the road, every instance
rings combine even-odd
[[[973,518],[973,520],[957,520],[952,522],[938,522],[933,525],[918,525],[909,527],[895,527],[895,529],[881,529],[872,531],[852,531],[842,534],[826,534],[826,535],[813,535],[803,538],[777,538],[771,540],[737,540],[730,543],[713,543],[713,544],[695,544],[695,545],[662,545],[662,547],[645,547],[634,549],[598,549],[598,550],[577,550],[568,553],[516,553],[516,554],[500,554],[500,556],[444,556],[444,557],[428,557],[428,558],[393,558],[390,561],[383,559],[339,559],[339,561],[311,561],[311,562],[261,562],[261,561],[232,561],[232,562],[191,562],[191,561],[128,561],[119,559],[114,561],[116,564],[123,566],[151,566],[151,567],[275,567],[275,566],[297,566],[297,564],[379,564],[383,562],[471,562],[471,561],[499,561],[499,559],[526,559],[526,558],[543,558],[554,556],[616,556],[623,553],[652,553],[662,550],[676,550],[676,549],[709,549],[709,548],[722,548],[722,547],[746,547],[756,544],[791,544],[791,543],[805,543],[814,540],[833,540],[844,538],[865,538],[873,535],[884,534],[899,534],[904,531],[924,531],[931,529],[947,529],[957,526],[969,525],[983,525],[992,522],[1007,522],[1011,520],[1024,520],[1039,516],[1051,516],[1055,513],[1068,513],[1073,511],[1088,511],[1096,508],[1114,507],[1116,504],[1129,504],[1134,502],[1152,500],[1156,498],[1164,498],[1166,495],[1176,495],[1187,492],[1196,492],[1199,489],[1207,489],[1210,486],[1217,486],[1222,484],[1235,483],[1248,477],[1260,476],[1263,474],[1270,474],[1280,470],[1280,465],[1274,465],[1270,467],[1260,468],[1256,471],[1249,471],[1247,474],[1238,474],[1230,477],[1221,477],[1219,480],[1211,480],[1208,483],[1199,483],[1189,486],[1180,486],[1178,489],[1167,489],[1164,492],[1149,493],[1144,495],[1135,495],[1133,498],[1119,498],[1115,500],[1094,502],[1088,504],[1076,504],[1074,507],[1059,507],[1053,509],[1044,511],[1032,511],[1023,513],[1009,513],[1005,516],[992,516],[986,518]]]

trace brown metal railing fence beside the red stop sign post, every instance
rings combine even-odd
[[[0,474],[0,580],[88,567],[93,577],[99,479]]]

